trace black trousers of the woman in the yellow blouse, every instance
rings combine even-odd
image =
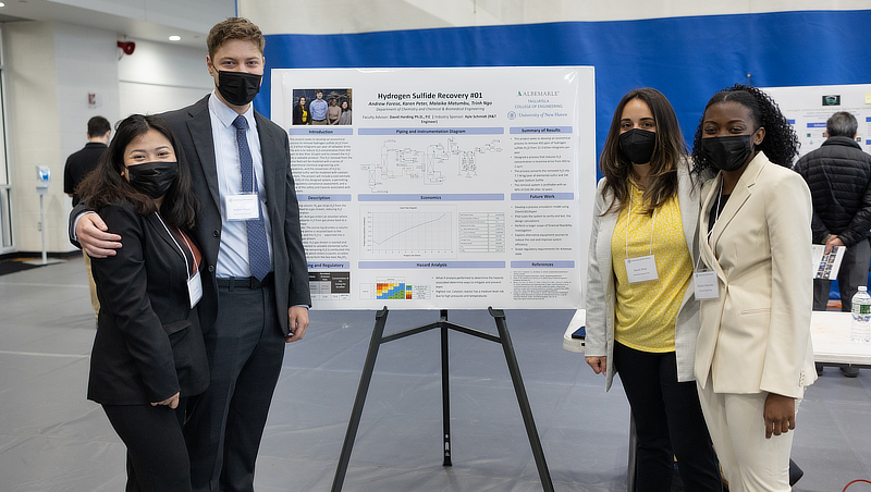
[[[677,381],[675,353],[653,354],[615,343],[613,357],[635,418],[636,491],[671,490],[674,456],[686,490],[721,491],[696,382]]]

